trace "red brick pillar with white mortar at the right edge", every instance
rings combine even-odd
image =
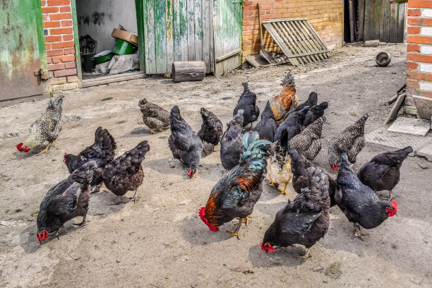
[[[416,114],[412,95],[432,98],[432,1],[408,1],[407,97],[405,111]]]

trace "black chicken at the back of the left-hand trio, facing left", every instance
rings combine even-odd
[[[105,165],[112,162],[116,148],[117,145],[114,137],[112,137],[107,129],[102,129],[99,126],[95,131],[95,143],[85,148],[78,155],[64,153],[63,162],[68,167],[69,173],[73,173],[76,169],[83,166],[83,164],[95,160],[97,168],[95,169],[90,186],[97,186],[102,184],[102,169]]]

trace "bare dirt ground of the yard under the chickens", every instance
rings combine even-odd
[[[366,132],[382,125],[390,109],[386,100],[405,81],[404,49],[337,48],[328,61],[293,69],[300,100],[316,91],[318,101],[330,103],[323,151],[314,162],[329,171],[328,138],[366,112]],[[383,50],[390,52],[392,63],[380,68],[374,57]],[[227,239],[225,230],[234,221],[211,232],[199,219],[198,209],[223,170],[219,153],[204,157],[198,174],[188,179],[187,169],[168,161],[169,131],[150,134],[138,100],[147,97],[168,110],[179,105],[198,131],[200,107],[210,109],[224,125],[232,118],[241,82],[249,82],[263,109],[280,92],[289,68],[239,70],[197,83],[145,78],[68,92],[56,148],[43,155],[20,153],[15,145],[27,138],[47,100],[0,108],[0,287],[432,287],[432,164],[419,157],[402,165],[393,190],[397,217],[367,230],[362,242],[352,239],[352,225],[339,208],[331,208],[329,232],[305,263],[294,258],[304,253],[301,246],[275,253],[260,249],[275,213],[295,196],[291,185],[287,196],[264,186],[248,227],[241,227],[240,240]],[[80,218],[68,222],[59,240],[41,246],[35,216],[40,201],[68,176],[64,152],[77,154],[90,145],[97,126],[116,138],[116,155],[149,141],[140,198],[135,205],[109,205],[115,196],[102,186],[92,195],[85,227],[72,225]],[[366,145],[354,169],[379,152],[383,150]],[[378,194],[385,199],[387,193]]]

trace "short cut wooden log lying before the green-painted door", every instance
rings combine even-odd
[[[174,82],[201,81],[204,76],[204,61],[177,61],[172,64],[171,77]]]

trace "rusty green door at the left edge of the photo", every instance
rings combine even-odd
[[[42,94],[35,71],[46,70],[40,1],[2,1],[0,8],[0,100]]]

